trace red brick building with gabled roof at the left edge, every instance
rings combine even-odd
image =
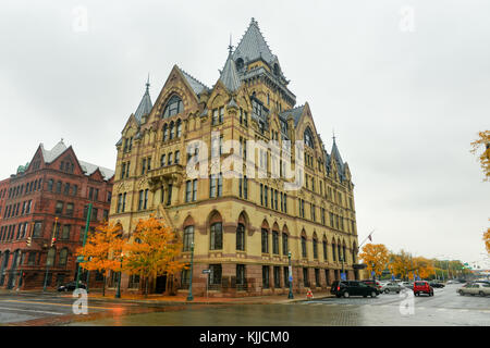
[[[108,217],[113,175],[79,161],[61,140],[51,150],[40,144],[29,163],[1,181],[0,287],[42,288],[46,281],[54,288],[73,281],[88,204],[95,228]],[[90,274],[90,287],[100,281]]]

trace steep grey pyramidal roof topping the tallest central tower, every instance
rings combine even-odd
[[[252,18],[247,30],[233,53],[233,60],[236,61],[238,58],[242,58],[245,62],[261,58],[270,65],[277,61],[277,57],[270,51],[255,18]]]

